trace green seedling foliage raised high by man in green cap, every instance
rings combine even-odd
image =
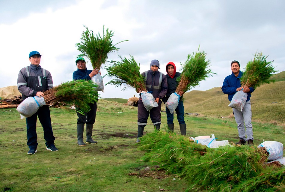
[[[110,52],[117,51],[119,48],[115,47],[117,44],[123,42],[120,41],[113,45],[112,37],[114,32],[108,28],[105,31],[105,26],[103,26],[103,35],[100,33],[94,35],[92,30],[89,30],[88,27],[85,32],[82,32],[81,42],[77,43],[77,49],[82,52],[82,54],[77,55],[77,57],[86,56],[91,61],[92,67],[95,69],[100,69],[101,64],[105,64],[108,59],[108,54]],[[125,40],[129,41],[129,40]]]

